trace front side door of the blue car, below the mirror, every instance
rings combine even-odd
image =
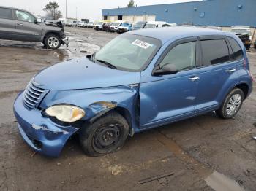
[[[153,128],[194,114],[197,95],[197,38],[172,43],[157,67],[172,63],[177,74],[151,76],[140,83],[140,128]]]

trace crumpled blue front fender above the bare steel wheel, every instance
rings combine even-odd
[[[138,88],[138,85],[124,85],[86,90],[51,90],[40,107],[47,109],[57,104],[79,106],[86,112],[82,120],[89,122],[94,122],[112,109],[126,109],[130,115],[130,127],[136,131]]]

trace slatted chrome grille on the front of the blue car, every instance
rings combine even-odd
[[[29,109],[33,109],[38,106],[39,101],[42,99],[42,95],[45,93],[45,90],[36,86],[34,84],[34,79],[29,82],[26,90],[23,93],[23,103]]]

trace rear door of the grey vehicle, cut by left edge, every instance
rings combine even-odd
[[[0,7],[0,39],[12,40],[16,36],[16,23],[12,9]]]

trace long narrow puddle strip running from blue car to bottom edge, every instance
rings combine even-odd
[[[192,169],[206,181],[206,184],[216,191],[242,191],[244,190],[239,184],[224,174],[211,170],[203,163],[200,163],[194,157],[190,156],[172,139],[167,138],[163,133],[157,133],[157,140],[162,143],[170,152],[184,163],[192,165]]]

